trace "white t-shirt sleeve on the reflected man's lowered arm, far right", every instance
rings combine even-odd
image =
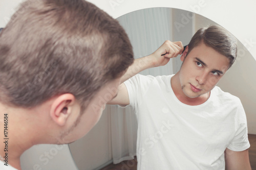
[[[232,151],[244,151],[250,147],[250,143],[248,140],[246,115],[241,102],[238,105],[235,119],[236,133],[227,148]]]

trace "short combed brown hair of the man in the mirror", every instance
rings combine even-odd
[[[187,55],[201,42],[229,58],[229,67],[237,58],[237,39],[221,26],[213,25],[199,29],[188,44]]]

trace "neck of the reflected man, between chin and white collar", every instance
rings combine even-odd
[[[201,105],[204,102],[206,102],[209,98],[209,93],[200,95],[197,98],[189,98],[187,95],[185,95],[181,88],[179,72],[177,72],[177,74],[172,77],[170,85],[172,86],[172,89],[174,91],[174,94],[176,95],[176,98],[180,102],[182,102],[186,105],[190,105],[190,106]]]

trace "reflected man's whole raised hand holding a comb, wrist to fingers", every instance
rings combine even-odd
[[[182,42],[180,41],[164,41],[164,43],[152,54],[154,66],[157,67],[167,64],[170,58],[181,55],[184,50],[183,48]]]

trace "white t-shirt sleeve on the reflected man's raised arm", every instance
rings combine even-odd
[[[152,83],[153,79],[153,76],[143,76],[137,74],[124,82],[130,100],[130,105],[127,106],[136,108],[139,105],[139,102],[143,99],[143,96],[147,92],[147,89]]]

